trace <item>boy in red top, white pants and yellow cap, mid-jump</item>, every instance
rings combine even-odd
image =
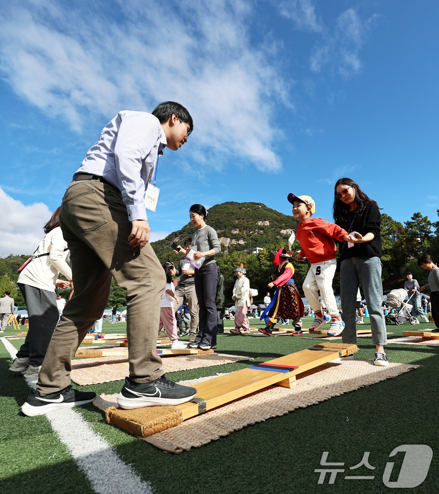
[[[310,196],[288,194],[288,201],[293,205],[293,216],[299,220],[296,238],[302,249],[295,253],[295,259],[303,261],[307,258],[311,262],[311,268],[302,286],[305,297],[315,314],[310,330],[321,328],[331,319],[328,335],[338,336],[343,331],[345,323],[339,315],[332,290],[332,279],[337,266],[335,259],[337,247],[333,239],[340,242],[352,242],[355,239],[334,223],[321,218],[311,218],[316,212],[316,204]],[[328,309],[330,318],[321,311],[318,290],[320,290],[320,296]]]

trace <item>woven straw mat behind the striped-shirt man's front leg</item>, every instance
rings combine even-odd
[[[242,360],[253,360],[240,355],[226,355],[210,353],[202,355],[165,355],[161,357],[162,369],[165,373],[188,371],[201,367],[220,366]],[[129,375],[128,357],[119,355],[114,357],[96,357],[92,359],[78,359],[72,362],[70,377],[80,386],[98,384],[102,382],[119,381]]]

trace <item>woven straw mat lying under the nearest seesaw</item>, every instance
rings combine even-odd
[[[387,367],[374,366],[368,360],[348,360],[342,364],[324,364],[297,376],[295,388],[269,386],[261,391],[218,407],[210,412],[185,420],[180,425],[154,434],[144,441],[170,453],[181,453],[199,448],[210,441],[233,432],[281,416],[297,408],[305,408],[333,396],[354,391],[385,379],[396,377],[421,366],[390,363]],[[179,384],[196,386],[213,377],[204,377]],[[108,406],[117,406],[116,395],[101,395]]]

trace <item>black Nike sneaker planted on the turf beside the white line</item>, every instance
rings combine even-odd
[[[21,407],[21,411],[29,417],[43,415],[47,412],[53,412],[60,408],[72,408],[84,403],[90,403],[96,398],[96,393],[86,393],[72,389],[72,386],[61,391],[56,391],[50,395],[40,396],[36,389],[31,389],[31,394]]]

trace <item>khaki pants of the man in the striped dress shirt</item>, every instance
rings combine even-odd
[[[75,295],[64,307],[39,375],[42,396],[70,384],[71,359],[87,331],[102,317],[112,277],[126,288],[129,378],[151,382],[163,371],[156,352],[160,297],[166,277],[148,243],[128,243],[131,222],[120,192],[99,181],[72,182],[59,223],[70,249]]]

